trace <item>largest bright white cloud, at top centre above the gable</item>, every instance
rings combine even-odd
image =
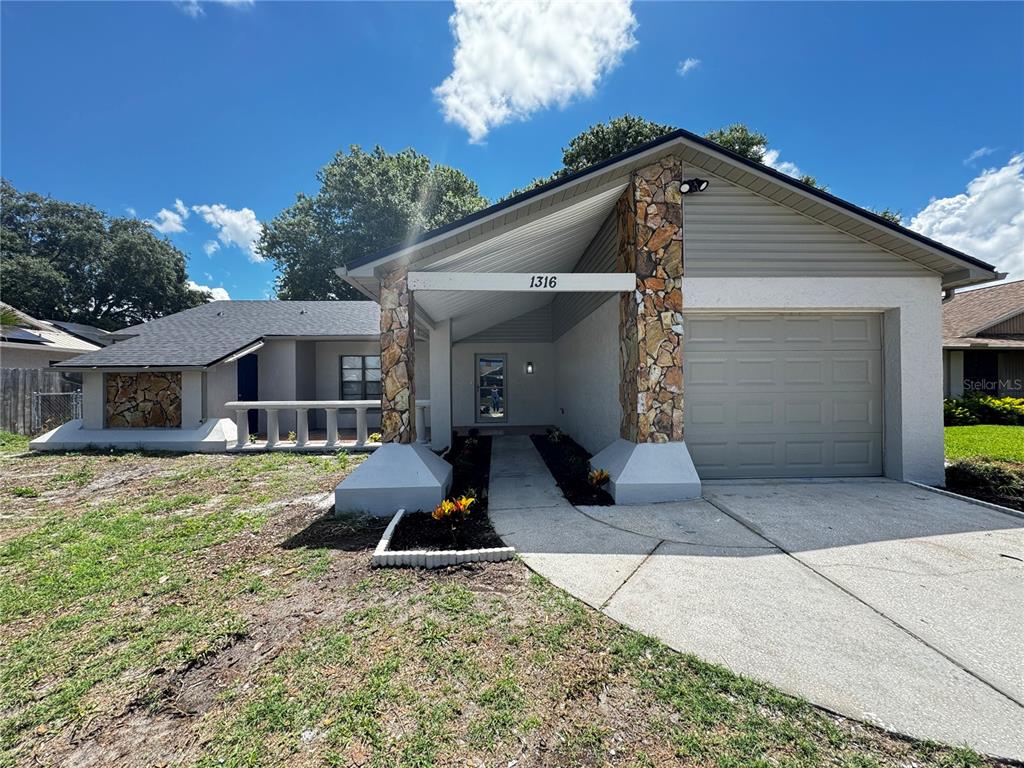
[[[511,120],[590,96],[636,44],[630,0],[456,0],[452,74],[434,89],[472,142]]]

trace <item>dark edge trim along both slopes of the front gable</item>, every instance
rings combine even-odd
[[[934,248],[949,256],[952,256],[955,259],[959,259],[962,261],[968,262],[969,264],[973,264],[974,266],[986,269],[990,272],[996,271],[995,266],[993,266],[992,264],[982,261],[981,259],[977,259],[974,256],[969,256],[968,254],[963,253],[962,251],[957,251],[955,248],[950,248],[949,246],[943,245],[942,243],[932,240],[931,238],[921,234],[920,232],[915,232],[912,229],[908,229],[905,226],[902,226],[900,224],[895,224],[892,221],[889,221],[888,219],[882,218],[877,213],[868,211],[866,208],[861,208],[860,206],[854,205],[853,203],[843,200],[842,198],[837,198],[835,195],[826,193],[823,189],[818,189],[815,186],[810,186],[809,184],[805,184],[803,181],[795,179],[792,176],[787,176],[781,171],[776,171],[774,168],[770,168],[764,165],[763,163],[757,163],[753,160],[750,160],[749,158],[744,158],[742,155],[737,155],[731,150],[727,150],[724,146],[716,144],[714,141],[711,141],[705,138],[703,136],[698,136],[695,133],[691,133],[690,131],[687,131],[684,128],[677,128],[671,133],[667,133],[664,136],[660,136],[659,138],[655,138],[652,141],[648,141],[645,144],[636,146],[630,150],[629,152],[624,152],[621,155],[614,156],[613,158],[608,158],[607,160],[603,160],[600,163],[596,163],[595,165],[592,165],[588,168],[584,168],[582,171],[577,171],[575,173],[570,173],[568,176],[555,179],[554,181],[549,181],[548,183],[542,184],[536,189],[529,189],[528,191],[516,195],[513,198],[504,200],[501,203],[497,203],[493,206],[489,206],[488,208],[479,210],[476,213],[471,213],[468,216],[464,216],[463,218],[457,221],[453,221],[450,224],[445,224],[435,229],[423,232],[422,234],[419,234],[418,237],[414,238],[409,243],[403,243],[399,246],[388,248],[383,251],[378,251],[377,253],[371,254],[369,256],[364,256],[362,258],[355,259],[346,266],[349,269],[351,269],[353,267],[365,266],[366,264],[386,259],[389,256],[400,253],[401,251],[412,248],[413,246],[425,243],[428,240],[433,240],[434,238],[444,234],[445,232],[465,226],[466,224],[470,224],[479,219],[486,218],[487,216],[493,216],[494,214],[499,213],[505,210],[506,208],[511,208],[512,206],[519,205],[520,203],[530,200],[531,198],[536,198],[540,195],[544,195],[545,193],[548,193],[559,186],[575,181],[577,179],[583,176],[595,173],[604,168],[615,165],[616,163],[621,163],[624,160],[629,160],[632,157],[649,152],[650,150],[657,148],[663,144],[668,144],[680,138],[686,139],[687,141],[691,141],[697,144],[698,146],[701,146],[705,150],[709,150],[713,153],[722,155],[725,158],[728,158],[729,160],[734,161],[752,170],[764,173],[765,175],[769,176],[775,181],[780,181],[802,193],[805,193],[815,198],[819,198],[825,201],[826,203],[830,203],[831,205],[838,206],[839,208],[842,208],[850,213],[853,213],[854,215],[865,218],[872,224],[877,224],[879,226],[882,226],[883,228],[889,229],[898,234],[902,234],[904,237],[910,238],[911,240],[915,240],[919,243],[928,246],[929,248]]]

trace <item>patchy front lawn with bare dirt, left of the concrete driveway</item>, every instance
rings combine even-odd
[[[0,765],[988,764],[675,653],[518,562],[371,570],[381,522],[310,497],[357,461],[0,456]]]

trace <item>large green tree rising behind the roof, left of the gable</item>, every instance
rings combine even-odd
[[[350,299],[359,294],[335,267],[408,242],[486,206],[461,171],[415,152],[380,146],[339,152],[316,174],[319,191],[263,227],[260,253],[279,271],[281,299]]]

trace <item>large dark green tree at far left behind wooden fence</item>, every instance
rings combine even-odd
[[[36,317],[114,331],[202,304],[185,255],[134,218],[0,182],[0,292]]]

